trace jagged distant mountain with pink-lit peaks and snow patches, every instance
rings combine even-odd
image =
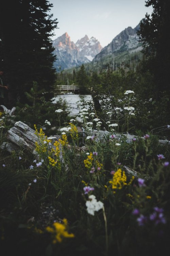
[[[100,42],[94,37],[89,39],[85,35],[75,44],[67,33],[55,39],[53,47],[55,48],[54,55],[57,57],[54,67],[57,71],[91,62],[102,49]]]

